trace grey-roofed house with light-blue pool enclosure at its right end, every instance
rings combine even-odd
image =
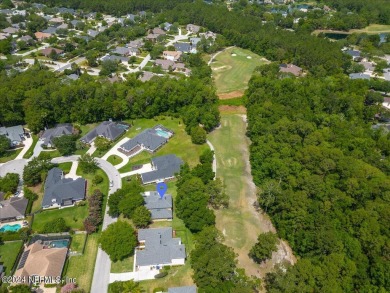
[[[122,144],[119,147],[119,151],[128,156],[134,156],[142,150],[154,153],[166,144],[172,135],[173,132],[162,125],[147,128],[137,136]]]

